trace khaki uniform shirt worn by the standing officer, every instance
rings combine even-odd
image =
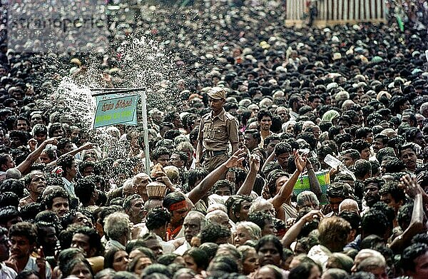
[[[226,151],[230,143],[238,143],[238,121],[224,109],[218,116],[213,112],[200,120],[198,141],[203,140],[204,151]]]

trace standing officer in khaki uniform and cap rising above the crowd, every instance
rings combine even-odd
[[[225,89],[213,87],[207,94],[211,112],[200,120],[196,166],[213,171],[228,160],[229,143],[232,146],[231,153],[238,149],[238,121],[223,108]]]

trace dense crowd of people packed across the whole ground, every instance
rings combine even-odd
[[[84,54],[0,30],[1,279],[428,278],[423,20],[295,29],[281,1],[231,2],[122,6]],[[141,36],[175,72],[151,88],[150,173],[140,117],[99,137],[50,98],[135,84]]]

